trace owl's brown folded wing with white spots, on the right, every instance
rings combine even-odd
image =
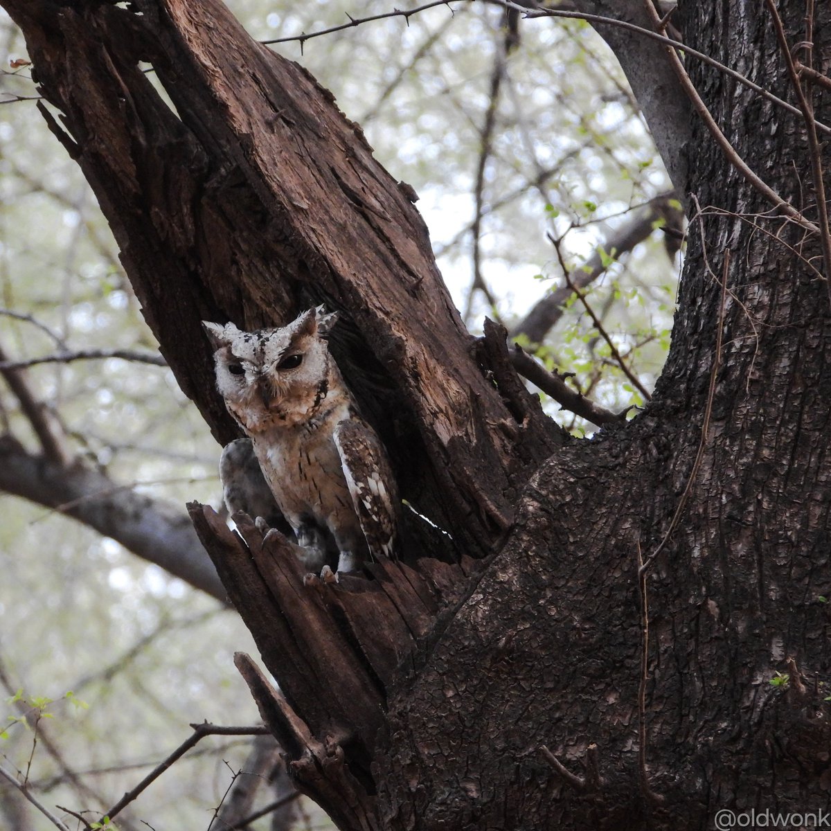
[[[396,543],[398,494],[381,440],[354,418],[339,422],[333,438],[369,552],[372,557],[391,557]]]

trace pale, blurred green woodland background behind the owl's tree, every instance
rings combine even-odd
[[[347,12],[392,7],[229,6],[254,37],[283,41],[273,48],[332,90],[416,189],[471,331],[497,319],[602,406],[643,403],[668,347],[680,205],[588,25],[520,21],[515,45],[501,9],[439,6],[301,50],[298,36]],[[253,645],[184,513],[188,499],[219,507],[219,447],[161,361],[81,171],[36,111],[5,12],[0,37],[0,764],[27,774],[46,804],[106,809],[189,722],[256,723],[232,666]],[[543,400],[578,435],[594,429]],[[57,457],[71,475],[50,478]],[[173,562],[185,548],[193,559]],[[117,824],[208,828],[250,745],[204,740]],[[2,783],[0,817],[20,831],[52,827]],[[311,804],[295,821],[327,827]]]

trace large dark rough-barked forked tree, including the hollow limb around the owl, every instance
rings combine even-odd
[[[2,5],[215,434],[233,435],[199,319],[256,326],[326,301],[352,322],[338,357],[386,411],[403,495],[452,535],[414,523],[409,553],[447,562],[304,587],[278,535],[240,519],[236,536],[192,506],[283,692],[238,666],[340,827],[704,829],[718,809],[827,807],[831,312],[817,234],[770,211],[693,121],[686,193],[705,210],[656,394],[632,422],[568,440],[524,393],[503,333],[477,343],[461,327],[407,190],[360,130],[218,2],[140,0],[140,16]],[[779,8],[804,41],[804,5]],[[827,71],[831,9],[814,12]],[[673,22],[793,100],[764,4],[682,2]],[[739,154],[813,218],[800,120],[688,66]],[[806,88],[827,123],[828,89]],[[788,686],[770,685],[776,671]]]

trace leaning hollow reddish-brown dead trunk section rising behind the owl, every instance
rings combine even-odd
[[[216,435],[235,428],[199,321],[278,325],[326,302],[354,324],[354,348],[336,356],[383,416],[403,495],[488,551],[557,430],[538,407],[516,425],[476,371],[420,214],[331,93],[253,42],[217,0],[139,0],[140,16],[94,0],[4,5],[61,111],[52,129],[95,189],[162,352]],[[175,111],[138,61],[153,65]],[[524,440],[534,425],[547,441]]]

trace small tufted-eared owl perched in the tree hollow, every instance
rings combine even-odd
[[[348,572],[391,556],[400,501],[383,445],[329,352],[336,317],[318,306],[259,332],[203,325],[217,388],[251,439],[307,568]]]

